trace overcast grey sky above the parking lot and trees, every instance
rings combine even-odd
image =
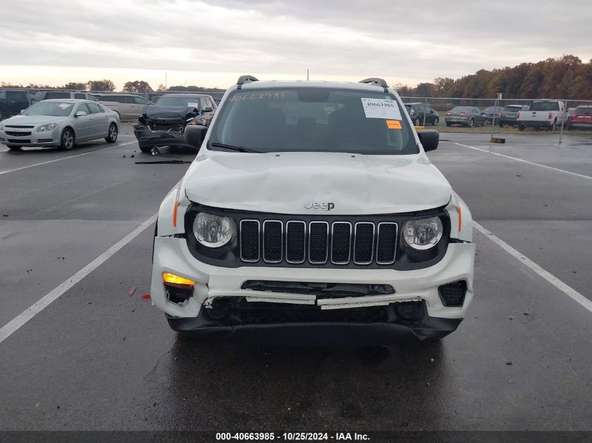
[[[263,79],[415,86],[565,54],[592,58],[587,1],[0,0],[0,81]]]

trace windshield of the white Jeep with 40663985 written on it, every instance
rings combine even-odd
[[[320,87],[236,90],[209,139],[259,152],[416,154],[401,107],[384,92]],[[214,146],[213,146],[214,145]]]

